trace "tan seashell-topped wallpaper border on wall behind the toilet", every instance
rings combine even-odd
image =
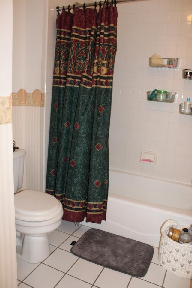
[[[35,89],[32,93],[20,89],[17,93],[13,93],[13,106],[45,106],[45,94],[39,89]]]

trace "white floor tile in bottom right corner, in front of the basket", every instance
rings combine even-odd
[[[167,271],[165,281],[164,281],[164,288],[189,288],[190,286],[190,279],[189,278],[182,278],[176,276],[175,274]]]

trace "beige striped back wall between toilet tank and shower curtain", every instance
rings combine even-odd
[[[13,23],[13,139],[26,150],[22,189],[44,191],[47,1],[14,0]]]

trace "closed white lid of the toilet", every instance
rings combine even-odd
[[[23,190],[15,194],[15,218],[23,221],[45,221],[57,217],[62,205],[52,195]]]

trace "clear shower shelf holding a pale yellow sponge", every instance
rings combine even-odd
[[[155,68],[178,68],[179,58],[149,58],[149,66]]]

